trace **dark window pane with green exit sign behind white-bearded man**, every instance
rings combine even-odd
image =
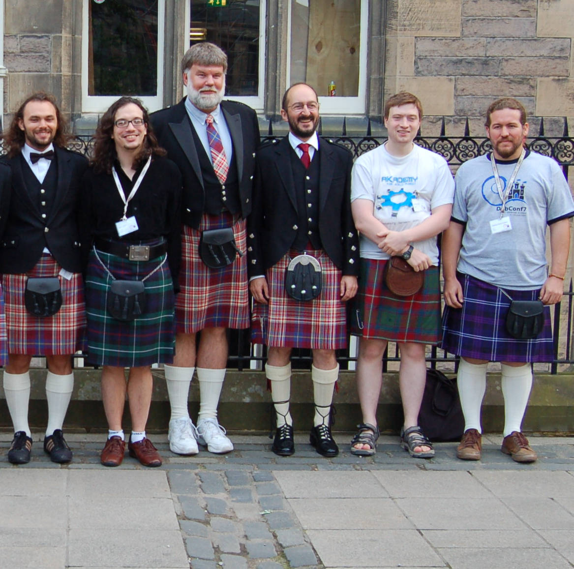
[[[189,45],[211,41],[227,53],[226,95],[257,95],[259,0],[191,0]]]

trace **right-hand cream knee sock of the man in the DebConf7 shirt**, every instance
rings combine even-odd
[[[532,368],[502,364],[502,394],[504,396],[504,436],[513,431],[520,432],[522,419],[532,389]]]

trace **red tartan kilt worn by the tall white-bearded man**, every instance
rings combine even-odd
[[[243,256],[238,255],[222,269],[210,269],[199,256],[201,231],[231,226]],[[199,229],[183,226],[180,292],[176,295],[178,334],[193,334],[203,328],[249,328],[245,226],[245,219],[228,212],[203,214]]]

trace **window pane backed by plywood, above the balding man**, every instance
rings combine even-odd
[[[360,0],[292,0],[291,83],[320,96],[359,94]],[[331,84],[331,89],[329,89]]]

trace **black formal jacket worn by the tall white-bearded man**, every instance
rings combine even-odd
[[[239,177],[239,199],[245,218],[251,211],[251,186],[255,167],[255,149],[259,146],[257,114],[246,104],[224,100],[223,116],[233,142],[233,152]],[[199,156],[193,142],[185,98],[173,107],[150,115],[152,127],[160,146],[168,151],[168,158],[175,162],[183,177],[183,222],[197,229],[203,214],[205,194]]]

